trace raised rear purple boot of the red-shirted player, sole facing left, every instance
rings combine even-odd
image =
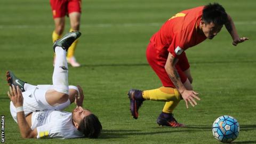
[[[130,99],[130,110],[134,119],[139,117],[139,108],[141,107],[144,99],[142,98],[142,91],[140,90],[130,90],[128,93],[128,98]]]

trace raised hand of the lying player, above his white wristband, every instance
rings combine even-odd
[[[12,101],[14,107],[17,108],[23,106],[23,96],[19,86],[17,86],[16,88],[14,85],[10,86],[10,91],[8,91],[7,94]]]

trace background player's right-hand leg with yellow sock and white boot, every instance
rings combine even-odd
[[[79,13],[79,12],[71,12],[71,13],[69,13],[70,26],[71,26],[70,31],[79,30],[80,18],[81,18],[81,13]],[[78,39],[69,47],[68,54],[67,54],[68,63],[70,63],[70,65],[73,66],[73,67],[81,66],[76,61],[76,59],[74,57],[77,43],[78,43]]]

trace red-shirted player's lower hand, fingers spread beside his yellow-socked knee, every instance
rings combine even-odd
[[[186,107],[188,108],[188,102],[190,103],[191,106],[195,107],[197,105],[197,102],[195,99],[200,100],[198,97],[198,93],[195,91],[188,91],[185,90],[181,94],[183,100],[186,102]]]

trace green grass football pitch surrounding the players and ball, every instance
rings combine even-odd
[[[139,118],[133,119],[127,91],[161,86],[147,64],[149,38],[175,13],[210,2],[222,4],[239,35],[250,40],[235,47],[223,28],[213,40],[187,50],[194,90],[201,101],[189,109],[181,101],[174,115],[188,127],[156,124],[164,102],[145,101]],[[5,71],[10,69],[31,84],[52,83],[51,7],[44,0],[1,1],[0,113],[5,115],[5,143],[220,143],[213,138],[211,126],[221,115],[238,119],[241,131],[234,143],[256,143],[255,5],[254,0],[84,0],[82,37],[76,50],[83,66],[69,67],[69,83],[83,87],[84,106],[102,122],[101,137],[36,140],[22,139],[11,117]]]

